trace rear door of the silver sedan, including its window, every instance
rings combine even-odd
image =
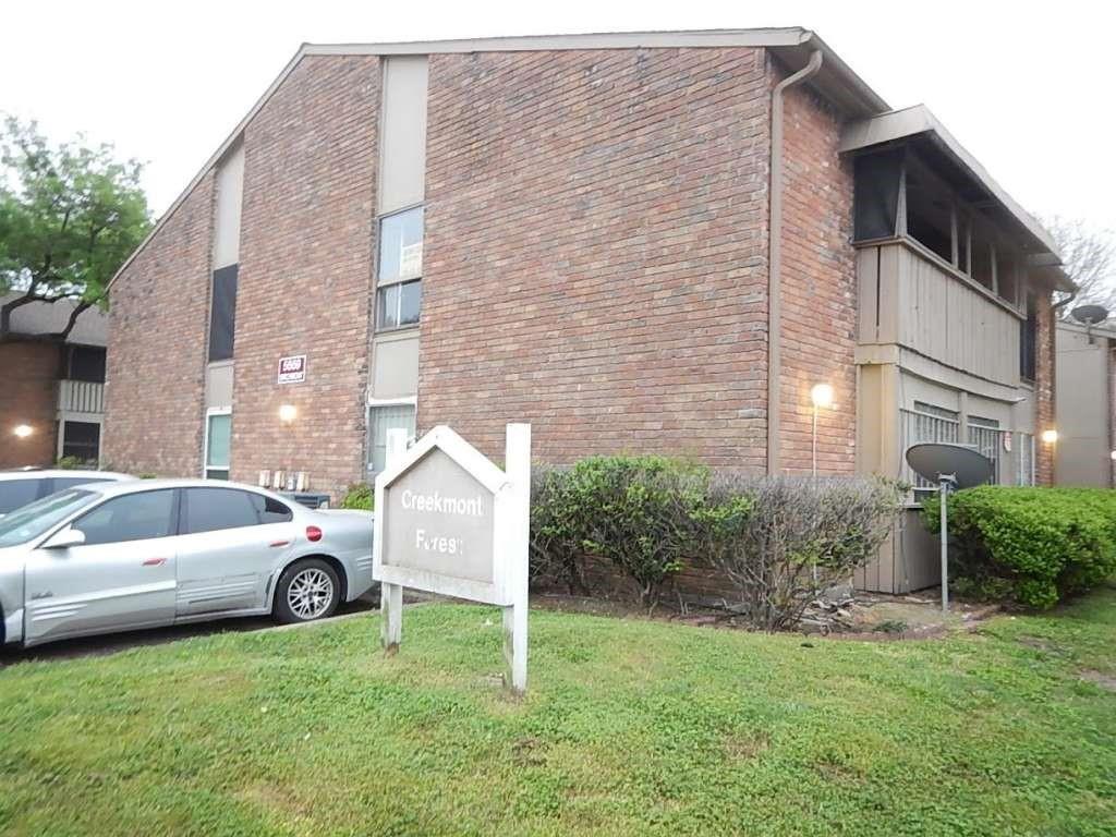
[[[234,488],[182,490],[179,617],[261,609],[272,569],[294,548],[289,507]]]

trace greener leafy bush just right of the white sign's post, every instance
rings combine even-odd
[[[693,509],[709,471],[665,456],[590,456],[536,474],[532,575],[586,593],[584,556],[608,560],[654,607],[664,583],[693,555]]]

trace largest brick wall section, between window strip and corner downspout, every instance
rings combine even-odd
[[[762,50],[431,56],[420,430],[761,470],[768,123]]]

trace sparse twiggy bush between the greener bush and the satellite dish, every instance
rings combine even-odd
[[[879,479],[719,475],[699,520],[757,627],[792,627],[819,588],[876,556],[903,492]]]

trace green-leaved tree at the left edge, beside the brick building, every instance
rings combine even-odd
[[[108,305],[113,275],[151,230],[142,166],[112,145],[50,145],[36,123],[0,129],[0,340],[11,314],[70,300],[65,340],[83,311]]]

